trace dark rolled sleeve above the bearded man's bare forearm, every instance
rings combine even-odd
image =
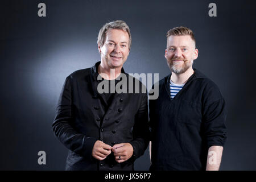
[[[227,138],[226,105],[217,86],[208,90],[203,108],[203,127],[207,150],[211,146],[224,146]]]

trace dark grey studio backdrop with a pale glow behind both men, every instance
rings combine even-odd
[[[47,16],[39,18],[38,4]],[[208,5],[217,5],[217,17]],[[128,73],[170,73],[166,32],[195,32],[194,67],[219,86],[228,106],[228,140],[222,170],[256,169],[255,1],[1,1],[0,169],[62,170],[67,149],[51,123],[60,90],[70,73],[100,60],[97,35],[111,20],[125,20],[133,45]],[[38,151],[47,164],[38,164]],[[150,166],[148,151],[135,169]]]

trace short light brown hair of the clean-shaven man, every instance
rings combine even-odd
[[[102,47],[105,43],[106,39],[106,32],[110,29],[118,29],[123,30],[128,33],[129,35],[129,49],[131,48],[131,32],[130,28],[127,26],[127,24],[122,20],[116,20],[114,22],[109,22],[104,24],[104,26],[101,28],[100,32],[98,32],[98,45]]]

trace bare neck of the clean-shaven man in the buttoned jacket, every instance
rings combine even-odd
[[[105,80],[114,80],[115,78],[117,78],[121,73],[121,69],[122,69],[122,67],[109,68],[106,65],[104,65],[104,63],[102,63],[102,62],[100,65],[98,65],[98,73]]]

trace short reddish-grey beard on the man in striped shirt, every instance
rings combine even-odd
[[[183,60],[183,61],[173,61],[173,60]],[[176,74],[182,74],[185,73],[188,68],[190,68],[193,65],[193,60],[184,60],[184,59],[171,59],[167,60],[167,64],[172,72]]]

